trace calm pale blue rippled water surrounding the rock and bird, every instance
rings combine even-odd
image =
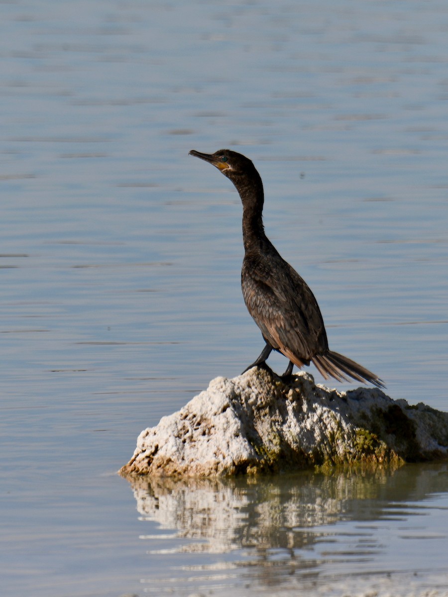
[[[2,594],[448,594],[444,467],[134,494],[115,475],[262,349],[240,200],[189,149],[253,159],[330,346],[446,410],[448,5],[0,13]]]

